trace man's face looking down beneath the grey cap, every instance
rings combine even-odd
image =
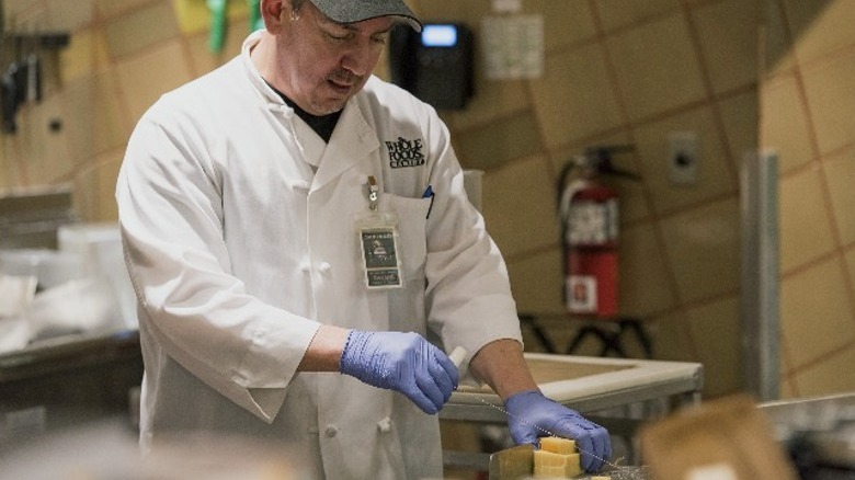
[[[283,15],[290,15],[289,7]],[[388,16],[337,23],[307,1],[277,36],[284,93],[303,110],[326,115],[344,107],[368,80],[391,28]]]

